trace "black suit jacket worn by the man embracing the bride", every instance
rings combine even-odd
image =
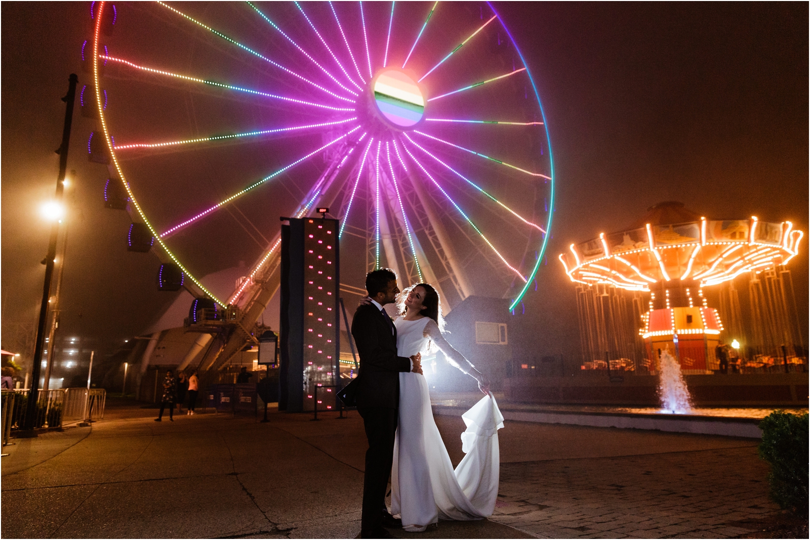
[[[352,320],[352,336],[360,354],[357,407],[399,407],[399,372],[411,371],[411,359],[397,356],[396,327],[373,304],[360,305]]]

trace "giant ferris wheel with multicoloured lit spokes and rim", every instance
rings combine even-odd
[[[436,285],[446,310],[472,294],[520,310],[537,289],[554,212],[548,126],[489,2],[90,12],[88,151],[109,160],[130,237],[146,234],[196,297],[255,323],[277,289],[279,216],[326,209],[350,289],[383,267]],[[240,259],[256,262],[229,297],[199,281]]]

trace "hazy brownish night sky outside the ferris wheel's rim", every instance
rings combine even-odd
[[[650,205],[679,200],[706,217],[756,215],[808,231],[806,3],[498,6],[538,84],[555,162],[548,265],[525,298],[541,353],[578,352],[573,284],[556,255],[622,230]],[[56,184],[68,75],[90,78],[79,58],[89,2],[0,9],[2,345],[13,348],[19,327],[36,325],[49,236],[38,207]],[[153,256],[123,247],[126,213],[102,206],[105,176],[83,148],[93,125],[77,109],[61,330],[112,352],[143,333],[173,295],[156,291]],[[807,247],[805,238],[791,261],[805,344]],[[232,261],[208,264],[213,272]]]

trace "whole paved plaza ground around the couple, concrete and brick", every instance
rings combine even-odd
[[[156,423],[111,400],[92,428],[15,439],[3,538],[355,538],[366,448],[356,411]],[[458,416],[437,416],[454,463]],[[778,508],[757,441],[507,421],[488,521],[400,538],[734,538]]]

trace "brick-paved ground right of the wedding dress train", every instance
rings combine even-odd
[[[778,511],[767,472],[750,444],[502,463],[492,520],[538,538],[737,538]]]

